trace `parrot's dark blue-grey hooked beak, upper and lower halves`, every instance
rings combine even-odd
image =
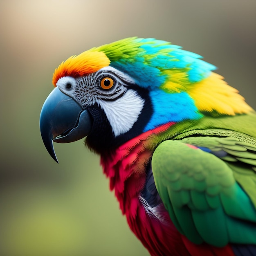
[[[92,128],[88,110],[84,110],[58,87],[49,94],[40,114],[40,131],[45,148],[58,163],[53,141],[68,143],[87,136]]]

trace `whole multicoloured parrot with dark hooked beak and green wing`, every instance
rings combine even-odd
[[[85,138],[152,256],[256,256],[256,112],[203,57],[130,37],[63,61],[40,112]]]

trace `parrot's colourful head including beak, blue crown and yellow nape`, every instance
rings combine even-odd
[[[162,124],[251,110],[214,69],[198,54],[152,38],[71,56],[56,68],[40,114],[45,147],[58,162],[53,141],[86,137],[103,154]]]

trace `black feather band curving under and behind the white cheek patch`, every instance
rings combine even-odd
[[[136,87],[133,87],[135,89]],[[132,128],[119,136],[115,136],[110,122],[108,121],[103,109],[98,105],[88,108],[90,115],[93,119],[92,131],[85,139],[85,144],[94,152],[98,154],[109,153],[126,141],[143,133],[144,127],[150,120],[153,114],[152,103],[148,94],[148,90],[144,88],[136,88],[137,93],[141,98],[145,100],[143,109],[138,117],[138,120],[132,126]]]

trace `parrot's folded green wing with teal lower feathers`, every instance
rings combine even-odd
[[[167,140],[152,171],[171,220],[191,242],[256,244],[256,145],[234,137]]]

